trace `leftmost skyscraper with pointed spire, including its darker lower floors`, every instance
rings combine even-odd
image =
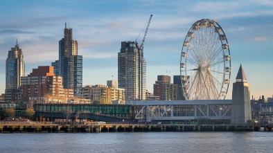
[[[17,96],[19,86],[21,85],[21,77],[25,75],[24,55],[19,48],[18,42],[14,48],[8,51],[6,60],[6,101],[17,102],[21,99]]]

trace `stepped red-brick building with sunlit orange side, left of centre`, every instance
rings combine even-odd
[[[90,103],[73,97],[73,89],[64,89],[62,77],[55,76],[53,66],[38,66],[28,76],[21,77],[22,101],[35,103]]]

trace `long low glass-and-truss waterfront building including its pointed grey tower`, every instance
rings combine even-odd
[[[129,100],[126,105],[37,104],[36,118],[65,118],[62,110],[77,111],[80,118],[116,122],[233,124],[243,125],[252,119],[249,84],[242,66],[234,82],[232,100]]]

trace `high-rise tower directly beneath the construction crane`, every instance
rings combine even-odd
[[[118,88],[125,89],[125,100],[146,99],[146,61],[136,42],[121,42],[118,53]]]

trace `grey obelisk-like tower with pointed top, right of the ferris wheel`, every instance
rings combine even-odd
[[[246,124],[249,120],[252,120],[249,84],[240,65],[232,90],[231,124]]]

